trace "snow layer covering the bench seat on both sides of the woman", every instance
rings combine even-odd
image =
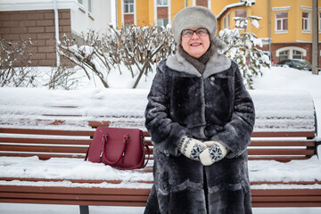
[[[152,167],[152,161],[148,163]],[[0,177],[26,177],[62,179],[61,182],[21,182],[1,181],[0,185],[61,185],[90,187],[97,184],[75,184],[69,179],[84,180],[116,180],[119,184],[103,182],[100,187],[128,187],[128,188],[150,188],[152,172],[142,173],[138,170],[112,169],[99,163],[83,161],[81,159],[52,158],[40,161],[34,157],[0,157]],[[321,164],[314,156],[306,161],[249,161],[249,173],[251,182],[256,181],[316,181],[321,177]],[[142,182],[143,181],[143,182]],[[321,188],[321,185],[313,185],[313,188]],[[310,186],[311,187],[311,186]],[[266,187],[265,187],[266,188]],[[312,187],[311,187],[312,188]]]

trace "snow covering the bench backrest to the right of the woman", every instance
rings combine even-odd
[[[315,130],[315,109],[309,93],[253,90],[251,97],[256,111],[255,130]]]

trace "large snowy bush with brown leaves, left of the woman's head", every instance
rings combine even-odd
[[[111,70],[119,73],[130,72],[135,88],[143,75],[152,72],[152,65],[167,58],[175,50],[174,38],[170,28],[156,26],[125,26],[113,29],[106,34],[90,30],[83,35],[83,42],[64,36],[60,54],[78,65],[90,78],[92,70],[109,87],[108,75]],[[124,68],[128,70],[120,70]],[[88,70],[89,69],[89,70]]]

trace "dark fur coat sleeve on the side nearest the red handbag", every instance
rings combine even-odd
[[[172,121],[169,116],[169,81],[165,73],[165,61],[160,62],[152,87],[147,96],[145,127],[152,136],[155,148],[166,155],[177,156],[178,143],[189,135],[188,128]]]

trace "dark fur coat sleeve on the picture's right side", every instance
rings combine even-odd
[[[235,66],[235,103],[231,120],[224,130],[212,136],[211,140],[225,144],[230,152],[226,158],[234,158],[242,154],[251,143],[251,133],[255,122],[254,103],[243,85],[243,78],[238,66]]]

